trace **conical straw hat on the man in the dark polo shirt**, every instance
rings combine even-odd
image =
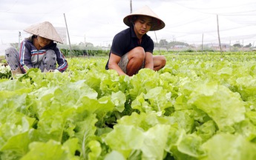
[[[134,13],[125,16],[123,19],[124,23],[129,27],[133,23],[133,16],[150,16],[154,18],[156,21],[153,21],[152,27],[150,30],[160,30],[165,27],[165,22],[163,22],[156,13],[154,13],[148,6],[142,7],[140,10],[135,11]]]

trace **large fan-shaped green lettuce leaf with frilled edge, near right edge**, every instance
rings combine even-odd
[[[226,127],[232,127],[233,124],[245,119],[246,109],[240,95],[217,83],[197,87],[191,93],[188,104],[207,113],[220,130],[226,130]]]

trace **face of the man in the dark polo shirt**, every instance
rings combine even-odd
[[[134,21],[134,31],[137,36],[143,36],[152,27],[152,18],[149,16],[138,16]]]

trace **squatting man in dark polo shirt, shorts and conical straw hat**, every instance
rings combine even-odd
[[[148,6],[125,16],[123,21],[129,28],[114,36],[105,69],[133,76],[142,68],[163,68],[165,57],[153,56],[154,42],[146,33],[162,29],[165,23]]]

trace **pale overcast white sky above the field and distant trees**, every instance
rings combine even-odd
[[[29,36],[25,27],[50,21],[65,27],[71,44],[91,42],[107,46],[116,33],[127,28],[123,18],[130,13],[130,0],[0,0],[1,44]],[[162,30],[149,31],[154,41],[184,41],[189,44],[218,43],[217,15],[221,43],[254,44],[256,40],[255,0],[133,0],[132,10],[144,5],[163,21]],[[256,43],[255,43],[256,46]]]

